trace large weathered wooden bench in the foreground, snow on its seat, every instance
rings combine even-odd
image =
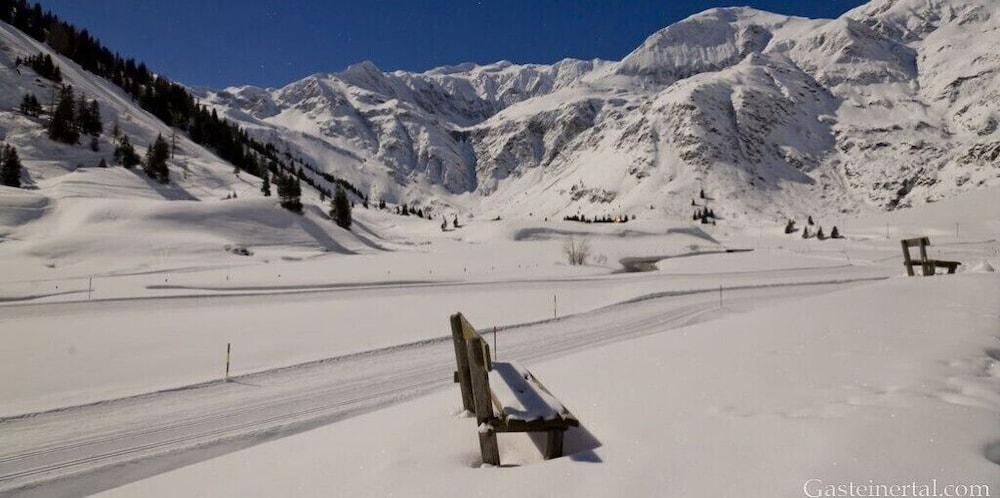
[[[528,369],[493,362],[490,347],[462,316],[451,316],[462,406],[476,415],[483,463],[500,465],[498,432],[544,432],[545,458],[563,453],[563,434],[580,422]],[[496,409],[496,411],[494,411]]]

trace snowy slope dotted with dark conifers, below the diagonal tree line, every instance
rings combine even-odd
[[[60,68],[60,83],[16,64],[18,58],[39,53]],[[97,100],[104,128],[98,150],[91,150],[89,138],[76,145],[53,141],[46,131],[47,115],[19,112],[29,93],[47,107],[61,84]],[[258,178],[235,174],[231,164],[181,134],[168,160],[168,184],[152,180],[141,168],[117,166],[111,137],[116,124],[140,155],[158,134],[171,136],[168,126],[115,85],[0,23],[0,141],[16,147],[23,163],[23,188],[0,186],[4,275],[16,278],[27,266],[62,271],[83,262],[101,272],[134,271],[155,265],[168,253],[201,263],[213,255],[231,260],[227,248],[239,246],[335,252],[368,247],[313,206],[304,216],[281,209],[276,198],[262,197]],[[110,167],[97,167],[102,159]],[[233,194],[236,199],[225,200]],[[306,200],[315,199],[307,195]]]

